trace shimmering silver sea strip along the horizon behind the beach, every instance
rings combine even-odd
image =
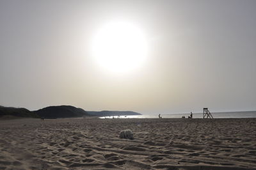
[[[185,116],[188,118],[190,113],[184,113],[184,114],[161,114],[162,118],[181,118],[182,116]],[[250,112],[212,112],[213,118],[256,118],[256,111],[250,111]],[[100,117],[102,119],[104,118],[158,118],[158,114],[154,115],[133,115],[133,116],[106,116],[106,117]],[[203,113],[193,113],[193,118],[203,118]]]

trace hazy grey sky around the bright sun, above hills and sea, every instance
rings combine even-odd
[[[91,54],[112,20],[143,30],[140,68]],[[100,49],[99,49],[100,50]],[[0,1],[0,105],[144,114],[256,110],[256,1]]]

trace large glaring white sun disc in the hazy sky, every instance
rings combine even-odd
[[[104,70],[114,73],[140,68],[147,57],[147,39],[140,27],[131,22],[109,22],[92,41],[92,55]]]

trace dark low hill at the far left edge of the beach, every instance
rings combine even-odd
[[[15,108],[15,107],[3,107],[0,105],[0,117],[4,116],[15,116],[21,118],[39,118],[35,112],[31,112],[25,108]]]

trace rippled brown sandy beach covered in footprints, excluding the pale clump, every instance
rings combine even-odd
[[[134,140],[118,137],[127,128]],[[255,118],[0,121],[0,169],[255,167]]]

